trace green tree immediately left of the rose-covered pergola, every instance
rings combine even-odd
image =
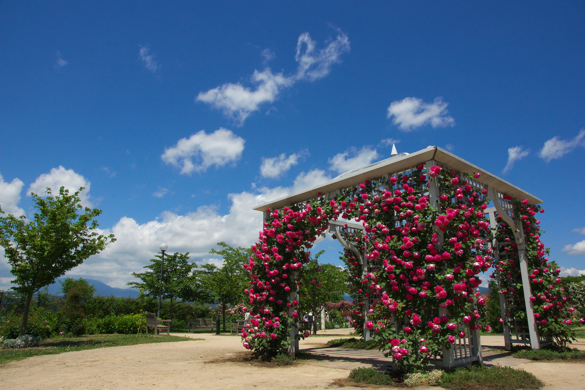
[[[211,249],[210,254],[222,256],[221,268],[213,264],[202,265],[205,270],[204,285],[212,295],[208,303],[219,303],[222,310],[223,330],[225,327],[225,310],[228,305],[244,303],[244,289],[248,285],[249,272],[243,269],[242,264],[252,256],[252,248],[233,248],[225,242],[218,242],[221,251]]]

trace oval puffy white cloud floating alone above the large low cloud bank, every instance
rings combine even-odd
[[[167,164],[180,167],[181,174],[191,175],[194,171],[205,172],[212,165],[220,167],[239,160],[245,142],[228,129],[219,128],[210,134],[201,130],[164,149],[160,158]],[[199,163],[194,163],[193,159]]]

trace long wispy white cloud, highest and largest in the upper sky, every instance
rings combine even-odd
[[[316,52],[315,46],[316,42],[311,39],[309,33],[302,33],[297,42],[295,60],[298,67],[295,73],[288,76],[283,72],[275,74],[269,67],[261,72],[254,70],[251,81],[256,85],[255,89],[244,87],[240,83],[226,83],[200,92],[196,100],[223,111],[223,114],[233,118],[241,126],[252,112],[259,110],[260,105],[277,100],[284,88],[291,87],[300,80],[315,81],[327,76],[332,64],[340,62],[341,54],[349,52],[350,49],[349,39],[340,30],[336,39],[325,49]],[[306,47],[304,52],[303,47]]]

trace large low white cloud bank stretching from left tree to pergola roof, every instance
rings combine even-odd
[[[101,234],[115,234],[116,242],[72,269],[67,276],[94,278],[110,286],[125,288],[126,283],[133,279],[131,273],[142,272],[142,267],[149,264],[149,259],[159,251],[161,242],[168,244],[170,253],[190,252],[191,261],[198,264],[220,265],[221,259],[209,255],[209,250],[217,242],[225,241],[235,247],[249,247],[256,242],[262,226],[262,213],[252,210],[252,207],[329,180],[331,177],[323,170],[315,169],[302,172],[291,187],[264,187],[258,193],[229,194],[231,206],[228,214],[220,214],[212,206],[202,206],[185,215],[164,211],[156,220],[144,224],[122,217],[111,229],[100,230]]]

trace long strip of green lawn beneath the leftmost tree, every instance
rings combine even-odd
[[[39,347],[22,348],[19,350],[0,350],[0,364],[13,360],[22,360],[38,355],[56,355],[64,352],[92,350],[103,347],[119,347],[121,345],[168,343],[171,341],[204,340],[203,338],[187,338],[180,336],[146,336],[141,334],[96,334],[71,338],[47,338],[40,342]]]

